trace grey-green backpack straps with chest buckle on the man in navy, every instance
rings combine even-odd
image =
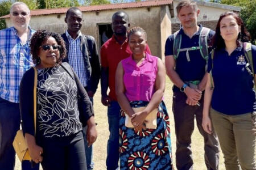
[[[190,48],[182,48],[182,49],[180,49],[182,35],[179,32],[180,30],[174,33],[174,59],[177,59],[179,57],[180,52],[186,51],[187,61],[189,62],[190,57],[189,57],[188,51],[199,49],[201,56],[205,59],[206,63],[208,63],[209,53],[208,53],[207,39],[208,39],[208,34],[210,32],[210,29],[205,27],[202,28],[199,35],[199,46],[192,46]],[[207,64],[205,66],[205,71],[207,71]]]

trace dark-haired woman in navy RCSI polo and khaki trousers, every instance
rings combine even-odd
[[[203,128],[207,133],[216,131],[228,170],[256,169],[255,79],[246,68],[243,49],[243,42],[249,40],[249,32],[237,14],[221,14],[213,37],[214,57],[208,62],[214,88],[209,75]],[[256,70],[256,46],[251,46],[251,52]]]

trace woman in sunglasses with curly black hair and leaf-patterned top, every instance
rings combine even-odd
[[[57,33],[39,30],[32,36],[30,48],[38,72],[36,135],[33,68],[20,83],[20,111],[31,158],[46,170],[86,169],[81,130],[88,125],[87,140],[92,145],[97,138],[94,113],[77,75],[67,63],[61,63],[66,56],[64,41]]]

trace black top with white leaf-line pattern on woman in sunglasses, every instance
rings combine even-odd
[[[75,80],[63,69],[38,69],[37,122],[44,137],[65,137],[82,129]]]

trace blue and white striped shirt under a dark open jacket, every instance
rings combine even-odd
[[[86,79],[86,67],[84,65],[84,57],[82,57],[82,51],[80,47],[81,43],[81,36],[82,33],[79,31],[79,36],[74,40],[66,31],[66,35],[69,41],[69,49],[68,49],[68,62],[69,65],[72,66],[75,73],[80,79],[82,86],[87,86],[87,79]]]

